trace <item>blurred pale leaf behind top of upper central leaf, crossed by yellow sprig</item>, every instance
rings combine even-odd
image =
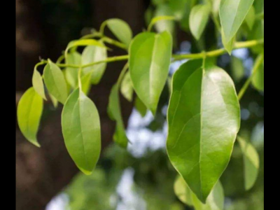
[[[173,12],[169,6],[162,4],[155,10],[155,18],[151,21],[148,27],[148,31],[151,31],[153,25],[158,32],[169,31],[170,34],[174,34],[175,30],[175,17],[172,16]]]

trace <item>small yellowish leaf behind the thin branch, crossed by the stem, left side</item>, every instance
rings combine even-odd
[[[66,57],[66,64],[80,66],[82,57],[78,52],[71,52]],[[73,89],[78,85],[78,68],[66,68],[66,80]]]

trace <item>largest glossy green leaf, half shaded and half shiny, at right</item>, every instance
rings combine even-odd
[[[183,64],[173,76],[167,152],[190,189],[206,202],[228,166],[240,127],[240,107],[228,73],[202,61]]]

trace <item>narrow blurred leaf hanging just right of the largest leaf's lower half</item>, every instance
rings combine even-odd
[[[245,189],[250,190],[258,179],[260,158],[252,144],[248,143],[241,137],[238,137],[237,139],[244,155]]]

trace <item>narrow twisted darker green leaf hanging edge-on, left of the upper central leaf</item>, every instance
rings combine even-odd
[[[125,125],[123,124],[123,117],[120,110],[120,97],[119,97],[119,85],[113,85],[111,94],[109,97],[108,113],[112,120],[116,120],[116,132],[113,136],[114,141],[127,148],[127,135],[125,134]]]

